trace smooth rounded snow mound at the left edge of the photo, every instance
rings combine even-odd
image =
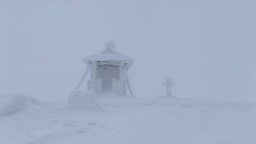
[[[24,105],[26,101],[30,101],[36,105],[45,105],[35,98],[23,94],[5,94],[0,96],[0,117],[9,116],[16,113]]]

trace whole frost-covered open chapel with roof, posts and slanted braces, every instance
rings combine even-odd
[[[83,58],[87,68],[77,84],[77,90],[84,79],[91,72],[88,81],[88,90],[96,93],[113,91],[118,95],[126,95],[127,87],[133,96],[127,70],[131,67],[133,59],[118,53],[114,41],[106,43],[105,49],[99,54]]]

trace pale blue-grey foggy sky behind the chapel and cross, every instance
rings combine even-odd
[[[255,0],[0,0],[0,94],[67,98],[108,40],[135,97],[256,102]],[[84,88],[86,89],[86,88]]]

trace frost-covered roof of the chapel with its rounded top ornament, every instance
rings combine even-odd
[[[133,59],[116,51],[114,41],[110,40],[106,43],[103,51],[99,54],[87,56],[83,58],[83,61],[125,61],[132,63]]]

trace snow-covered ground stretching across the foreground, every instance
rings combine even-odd
[[[1,106],[7,101],[3,101]],[[95,111],[23,101],[0,117],[0,144],[255,144],[256,105],[99,96]]]

